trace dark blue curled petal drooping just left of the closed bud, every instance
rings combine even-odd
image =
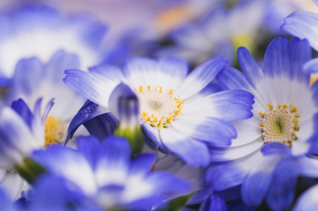
[[[77,112],[77,114],[74,116],[74,118],[72,119],[72,121],[69,125],[66,143],[69,141],[70,138],[73,137],[75,131],[79,128],[80,125],[82,125],[84,122],[92,119],[93,117],[99,116],[99,115],[107,113],[107,112],[109,112],[107,108],[104,108],[102,106],[99,106],[96,103],[93,103],[93,102],[90,102],[89,100],[87,100],[84,103],[84,105],[80,108],[80,110]],[[99,119],[97,119],[97,121],[98,120]],[[93,123],[94,122],[92,122],[92,124]],[[88,127],[89,126],[90,125],[88,123]],[[105,128],[107,129],[108,126]]]

